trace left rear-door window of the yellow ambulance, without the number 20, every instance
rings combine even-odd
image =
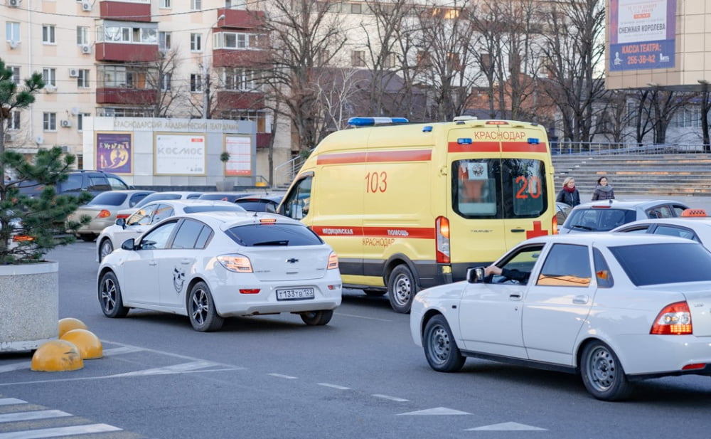
[[[465,218],[498,218],[499,159],[458,160],[452,169],[454,211]]]

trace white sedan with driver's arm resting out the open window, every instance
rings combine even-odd
[[[632,233],[571,233],[520,243],[467,280],[415,297],[412,338],[432,369],[467,356],[577,373],[595,398],[631,383],[711,375],[711,253]]]

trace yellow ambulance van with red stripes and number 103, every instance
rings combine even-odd
[[[349,124],[314,149],[279,206],[333,246],[345,287],[389,292],[392,308],[409,312],[422,288],[557,233],[544,127],[467,117]]]

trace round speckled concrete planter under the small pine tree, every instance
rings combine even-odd
[[[37,349],[58,322],[59,263],[0,265],[0,352]]]

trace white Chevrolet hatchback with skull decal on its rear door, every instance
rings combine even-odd
[[[272,213],[173,216],[106,255],[97,275],[107,317],[143,308],[190,317],[197,331],[225,317],[299,314],[327,324],[341,305],[330,245],[299,221]]]

